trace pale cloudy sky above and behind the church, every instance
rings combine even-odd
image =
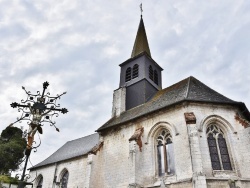
[[[60,132],[44,124],[33,165],[110,119],[141,2],[163,88],[194,76],[250,109],[248,0],[0,0],[0,131],[21,115],[10,103],[26,98],[22,86],[36,93],[48,81],[51,96],[67,91],[60,104],[69,112],[55,118]]]

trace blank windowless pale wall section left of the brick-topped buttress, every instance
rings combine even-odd
[[[95,169],[93,173],[97,178],[91,177],[90,187],[96,188],[98,185],[102,185],[103,188],[128,187],[128,135],[132,135],[133,131],[130,127],[128,129],[121,127],[103,136],[103,148],[97,153],[96,160],[93,161],[93,169]],[[100,166],[98,166],[102,171],[98,169],[99,167],[96,168],[95,164],[99,164]],[[98,181],[99,175],[101,176],[99,180],[101,183]]]

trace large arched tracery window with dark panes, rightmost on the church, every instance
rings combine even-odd
[[[212,124],[208,126],[206,133],[213,170],[232,170],[223,131]]]

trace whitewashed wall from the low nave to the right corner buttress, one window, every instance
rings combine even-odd
[[[97,179],[99,177],[100,179],[93,180],[90,183],[90,187],[127,188],[128,186],[159,186],[161,178],[158,177],[155,139],[156,133],[161,128],[168,128],[171,131],[176,161],[176,174],[165,177],[165,184],[174,183],[178,187],[178,183],[184,183],[192,187],[189,140],[181,109],[182,107],[180,106],[170,111],[162,111],[147,118],[124,124],[116,130],[110,130],[103,135],[104,146],[97,153],[95,160],[93,160],[93,165],[99,164],[97,165],[98,169],[103,172],[97,173],[94,170],[96,168],[93,168],[93,173],[98,177]],[[134,141],[133,143],[128,141],[139,127],[144,127],[142,152],[139,151],[138,145],[133,147]]]

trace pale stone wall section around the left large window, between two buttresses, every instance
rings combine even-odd
[[[165,183],[173,183],[190,179],[192,165],[187,128],[181,107],[161,111],[155,115],[138,120],[135,126],[144,127],[142,152],[137,158],[137,182],[140,185],[150,186],[157,184],[161,177],[158,176],[156,138],[163,128],[171,132],[174,144],[175,175],[164,177]]]

